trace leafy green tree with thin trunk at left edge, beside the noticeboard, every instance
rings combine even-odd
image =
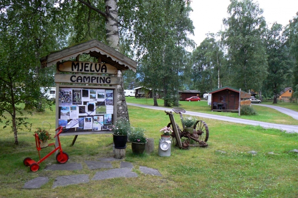
[[[19,104],[30,101],[38,107],[40,87],[47,86],[51,79],[38,74],[39,57],[65,41],[54,28],[54,23],[62,22],[54,3],[4,0],[0,4],[0,115],[5,119],[4,128],[11,126],[15,144],[17,130],[22,126],[30,129]]]

